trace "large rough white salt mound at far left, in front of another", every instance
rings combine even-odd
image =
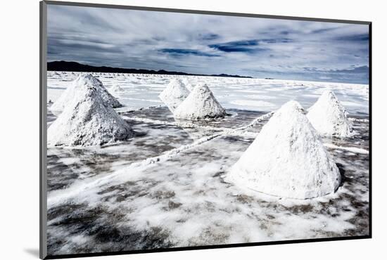
[[[130,126],[100,96],[98,85],[83,84],[47,131],[48,145],[103,145],[132,137]]]

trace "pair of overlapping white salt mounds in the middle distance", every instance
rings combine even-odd
[[[226,110],[217,102],[207,84],[198,84],[190,91],[179,79],[172,79],[159,97],[175,118],[203,119],[226,115]]]

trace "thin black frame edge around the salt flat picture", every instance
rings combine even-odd
[[[338,238],[312,238],[312,239],[300,239],[300,240],[282,240],[282,241],[270,241],[270,242],[249,242],[227,245],[208,245],[208,246],[193,246],[193,247],[173,247],[173,248],[160,248],[160,249],[144,249],[144,250],[131,250],[120,252],[96,252],[86,254],[62,254],[49,256],[46,252],[47,238],[46,238],[46,198],[47,198],[47,180],[46,180],[46,86],[47,86],[47,5],[60,5],[60,6],[82,6],[82,7],[94,7],[94,8],[118,8],[129,10],[141,10],[141,11],[158,11],[158,12],[172,12],[172,13],[195,13],[195,14],[207,14],[207,15],[226,15],[226,16],[239,16],[250,18],[270,18],[279,20],[301,20],[301,21],[314,21],[314,22],[335,22],[335,23],[348,23],[358,25],[368,25],[369,27],[369,235],[360,236],[348,236]],[[121,254],[143,254],[154,252],[174,252],[174,251],[186,251],[186,250],[198,250],[198,249],[218,249],[229,247],[255,247],[260,245],[284,245],[293,243],[305,243],[305,242],[326,242],[326,241],[339,241],[339,240],[359,240],[372,238],[372,22],[360,21],[360,20],[336,20],[336,19],[324,19],[324,18],[303,18],[294,16],[281,16],[281,15],[262,15],[251,13],[229,13],[219,11],[199,11],[199,10],[186,10],[175,8],[154,8],[143,6],[122,6],[111,4],[91,4],[91,3],[77,3],[68,1],[41,1],[40,8],[40,44],[39,44],[39,84],[40,84],[40,98],[39,98],[39,256],[41,259],[66,259],[74,257],[87,257],[87,256],[111,256]]]

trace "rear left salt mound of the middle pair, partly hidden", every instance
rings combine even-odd
[[[188,95],[189,91],[184,84],[179,79],[172,79],[158,97],[173,112]]]

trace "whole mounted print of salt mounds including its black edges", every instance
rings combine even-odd
[[[370,42],[41,2],[41,257],[371,238]]]

